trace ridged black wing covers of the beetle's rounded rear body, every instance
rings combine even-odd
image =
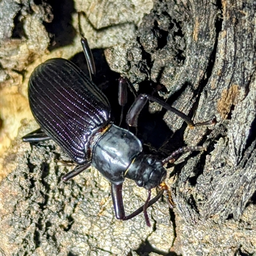
[[[78,164],[88,160],[93,134],[109,122],[106,96],[71,61],[54,58],[29,79],[31,111],[41,129]]]

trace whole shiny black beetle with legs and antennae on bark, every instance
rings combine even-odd
[[[90,73],[95,74],[92,52],[86,38],[81,39]],[[90,79],[91,77],[91,79]],[[29,105],[40,129],[24,136],[23,141],[35,143],[54,140],[71,157],[77,166],[63,180],[72,179],[90,165],[99,170],[111,182],[111,195],[116,218],[129,220],[144,212],[150,226],[147,208],[166,192],[170,207],[173,207],[168,187],[164,184],[164,164],[174,162],[182,152],[204,150],[203,147],[179,148],[166,159],[143,153],[141,141],[132,132],[110,121],[110,106],[106,96],[74,63],[62,58],[53,58],[35,68],[28,83]],[[120,79],[120,105],[126,102],[125,79]],[[130,85],[131,87],[131,85]],[[138,115],[148,100],[180,116],[190,127],[214,124],[215,118],[194,124],[191,118],[172,108],[166,102],[151,95],[141,94],[132,104],[126,117],[130,126],[137,126]],[[122,186],[125,178],[132,179],[148,190],[145,205],[125,216]],[[160,187],[156,197],[150,200],[151,189]]]

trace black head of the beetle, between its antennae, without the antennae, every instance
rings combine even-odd
[[[166,178],[163,163],[152,155],[138,155],[129,166],[125,177],[145,189],[156,188]]]

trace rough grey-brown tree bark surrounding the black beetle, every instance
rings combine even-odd
[[[33,68],[47,58],[70,58],[81,51],[79,35],[70,39],[68,35],[73,34],[65,34],[65,40],[73,39],[74,43],[71,48],[63,46],[57,38],[64,38],[60,28],[67,24],[52,21],[58,8],[53,12],[51,4],[44,1],[37,5],[10,3],[0,3],[1,13],[9,13],[8,18],[0,16],[6,24],[0,31],[1,93],[12,92],[13,96],[20,92],[24,100],[23,83],[28,82]],[[90,168],[67,184],[61,182],[61,176],[73,167],[57,162],[68,157],[53,141],[37,146],[22,143],[21,136],[36,127],[35,122],[23,122],[12,147],[1,157],[6,173],[12,173],[1,182],[0,255],[255,255],[255,1],[156,1],[142,21],[131,13],[137,9],[141,10],[138,13],[145,12],[141,8],[148,6],[148,1],[141,1],[141,6],[136,1],[136,8],[135,2],[127,1],[119,10],[115,3],[95,3],[86,1],[82,6],[77,1],[67,4],[65,12],[75,13],[72,17],[76,18],[76,12],[85,13],[81,23],[92,31],[93,46],[109,47],[119,42],[105,50],[112,70],[129,77],[139,92],[157,92],[195,122],[216,115],[218,124],[188,129],[179,117],[149,104],[150,113],[141,116],[138,129],[138,136],[147,144],[145,150],[157,149],[153,152],[159,157],[183,145],[199,144],[206,150],[186,154],[174,166],[167,166],[166,182],[176,207],[169,211],[164,198],[157,202],[148,210],[152,228],[147,228],[142,214],[129,221],[115,220],[109,183],[97,170]],[[106,11],[102,11],[104,7]],[[120,15],[111,14],[113,9]],[[18,42],[10,37],[20,17],[23,22],[18,22],[20,27],[15,31],[21,29],[26,36],[18,33]],[[34,18],[36,31],[44,33],[26,27]],[[54,30],[58,49],[51,49],[49,31],[44,29],[46,21],[58,27]],[[73,26],[78,31],[76,21]],[[113,39],[110,35],[115,33],[119,34]],[[126,33],[132,39],[124,44]],[[100,40],[104,35],[106,44]],[[40,47],[31,46],[26,58],[6,48],[21,49],[28,42],[36,45],[40,38]],[[90,42],[90,36],[88,39]],[[42,56],[47,47],[51,52]],[[18,63],[20,54],[24,61]],[[35,56],[40,60],[27,67],[28,58],[35,60]],[[12,86],[10,76],[15,81]],[[6,120],[12,119],[4,119],[3,113],[1,110],[2,134],[6,134],[6,124],[12,124]],[[150,124],[145,116],[152,120]],[[170,131],[172,138],[166,140]],[[142,205],[146,197],[143,189],[125,181],[127,212]]]

